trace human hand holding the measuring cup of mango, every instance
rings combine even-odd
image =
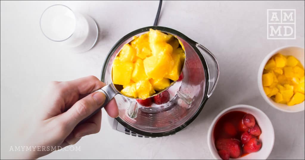
[[[95,76],[88,76],[66,82],[51,82],[47,93],[39,105],[38,115],[24,134],[24,146],[49,146],[64,148],[75,144],[85,135],[98,133],[101,128],[102,111],[79,124],[91,113],[99,109],[105,101],[102,92],[94,92],[105,86]],[[93,93],[92,93],[93,92]],[[119,116],[115,99],[105,107],[110,117]],[[36,159],[52,150],[26,151],[17,158]]]

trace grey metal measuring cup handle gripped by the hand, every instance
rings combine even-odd
[[[84,123],[84,121],[86,121],[87,119],[89,119],[90,117],[95,115],[95,113],[99,112],[99,110],[102,109],[103,107],[105,107],[112,100],[112,98],[114,98],[114,96],[117,94],[117,91],[114,88],[113,84],[108,84],[108,85],[102,87],[101,89],[99,89],[99,90],[97,90],[95,92],[102,92],[103,94],[105,94],[105,102],[104,102],[104,104],[101,107],[99,107],[99,109],[94,111],[90,116],[88,116],[87,118],[83,119],[78,124]]]

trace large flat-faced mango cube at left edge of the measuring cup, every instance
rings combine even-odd
[[[112,65],[112,81],[113,84],[127,85],[131,80],[131,73],[133,69],[132,62],[122,62],[116,58]]]

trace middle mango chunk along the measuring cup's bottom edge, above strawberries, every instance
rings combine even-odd
[[[140,80],[135,83],[138,98],[148,98],[152,96],[156,91],[148,80]]]

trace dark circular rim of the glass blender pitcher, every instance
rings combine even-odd
[[[103,64],[103,68],[105,68],[107,66],[107,62],[109,61],[110,57],[111,57],[111,53],[113,53],[118,47],[120,44],[122,44],[124,41],[126,41],[128,38],[130,38],[130,35],[136,35],[136,34],[139,34],[139,33],[143,33],[143,32],[146,32],[146,31],[149,31],[149,29],[154,29],[154,30],[161,30],[161,31],[164,31],[164,32],[168,32],[168,33],[173,33],[175,35],[177,35],[178,37],[184,39],[185,41],[188,41],[190,43],[190,45],[193,47],[193,49],[195,49],[196,52],[200,52],[199,49],[196,47],[196,44],[198,44],[197,42],[193,41],[192,39],[188,38],[187,36],[185,36],[184,34],[182,34],[181,32],[177,31],[177,30],[174,30],[172,28],[168,28],[168,27],[161,27],[161,26],[149,26],[149,27],[143,27],[143,28],[140,28],[140,29],[137,29],[137,30],[134,30],[128,34],[126,34],[124,37],[122,37],[119,41],[117,41],[116,44],[114,44],[114,46],[110,49],[105,61],[104,61],[104,64]],[[200,60],[202,61],[202,65],[203,65],[203,69],[204,69],[204,74],[205,74],[205,77],[206,77],[206,87],[205,87],[205,91],[204,91],[204,96],[203,96],[203,99],[202,99],[202,103],[199,105],[199,108],[197,109],[197,111],[195,112],[195,114],[189,118],[185,123],[183,123],[182,125],[174,128],[174,129],[171,129],[169,131],[165,131],[165,132],[146,132],[146,131],[143,131],[143,130],[139,130],[131,125],[129,125],[128,123],[124,122],[120,117],[117,117],[115,118],[121,125],[123,125],[125,128],[127,128],[128,130],[131,130],[132,132],[135,132],[137,134],[140,134],[140,135],[143,135],[143,136],[147,136],[147,137],[163,137],[163,136],[168,136],[168,135],[171,135],[171,134],[174,134],[174,133],[177,133],[179,132],[180,130],[184,129],[186,126],[188,126],[190,123],[192,123],[196,118],[197,116],[200,114],[200,112],[202,111],[207,99],[208,99],[208,90],[209,90],[209,71],[208,71],[208,66],[207,66],[207,63],[206,63],[206,60],[205,58],[203,57],[202,54],[198,54]],[[106,70],[104,70],[102,68],[102,71],[101,71],[101,81],[105,81],[105,72]]]

